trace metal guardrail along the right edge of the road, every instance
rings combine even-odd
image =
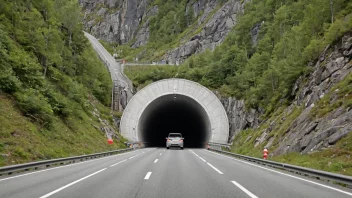
[[[284,164],[284,163],[274,162],[274,161],[270,161],[270,160],[263,160],[263,159],[259,159],[259,158],[255,158],[255,157],[249,157],[249,156],[240,155],[240,154],[236,154],[236,153],[230,153],[227,151],[222,151],[222,150],[214,149],[211,147],[208,148],[208,150],[212,150],[212,151],[215,151],[218,153],[230,155],[230,156],[233,156],[233,157],[236,157],[239,159],[243,159],[246,161],[254,162],[257,164],[261,164],[261,165],[265,165],[265,166],[269,166],[269,167],[273,167],[273,168],[277,168],[277,169],[281,169],[281,170],[286,170],[286,171],[293,172],[293,173],[296,173],[299,175],[314,177],[317,179],[328,180],[328,181],[332,181],[332,182],[338,182],[338,183],[346,184],[349,187],[352,187],[352,177],[351,176],[331,173],[331,172],[327,172],[327,171],[320,171],[320,170],[315,170],[315,169],[311,169],[311,168],[304,168],[301,166]]]

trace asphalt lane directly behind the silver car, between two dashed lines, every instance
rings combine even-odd
[[[136,197],[248,198],[188,149],[165,151],[150,171]]]

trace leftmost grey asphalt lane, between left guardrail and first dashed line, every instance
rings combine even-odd
[[[16,175],[15,178],[4,178],[6,180],[1,180],[2,178],[0,178],[0,197],[38,198],[72,181],[141,152],[142,150],[137,150],[136,152],[103,157],[83,163],[55,167],[54,169],[44,170],[43,172],[33,172],[29,175]]]

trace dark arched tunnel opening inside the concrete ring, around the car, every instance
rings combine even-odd
[[[209,117],[204,108],[188,96],[161,96],[143,111],[138,136],[145,146],[165,147],[169,133],[181,133],[185,148],[204,147],[211,135]]]

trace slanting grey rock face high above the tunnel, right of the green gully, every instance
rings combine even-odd
[[[189,6],[192,7],[190,9],[194,10],[196,16],[200,14],[201,10],[204,10],[204,13],[198,19],[198,24],[201,25],[204,22],[206,24],[201,32],[193,36],[189,41],[167,52],[165,59],[169,64],[180,64],[192,54],[204,52],[206,49],[214,50],[216,46],[224,41],[227,34],[236,25],[238,14],[243,13],[244,5],[247,1],[228,1],[207,22],[206,19],[216,9],[219,2],[209,0],[205,3],[205,0],[198,0],[193,4],[189,3]]]

